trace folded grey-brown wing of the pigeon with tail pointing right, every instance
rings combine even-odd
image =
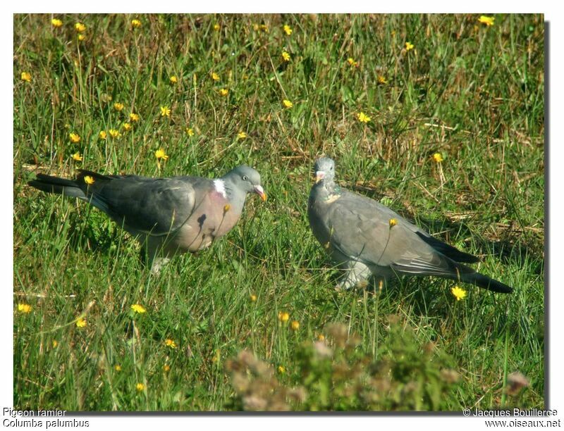
[[[349,194],[333,203],[327,219],[331,246],[368,266],[400,273],[453,274],[450,260],[424,242],[417,226],[372,199],[356,197],[361,196]],[[392,227],[391,218],[397,221]]]

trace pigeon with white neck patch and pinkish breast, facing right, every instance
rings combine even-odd
[[[80,170],[75,180],[38,174],[28,184],[82,199],[109,215],[142,244],[154,273],[174,254],[205,249],[229,232],[239,220],[247,193],[266,200],[259,173],[245,165],[216,180]]]

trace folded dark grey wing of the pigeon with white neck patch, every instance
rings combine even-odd
[[[106,178],[110,180],[96,181],[88,187],[90,203],[130,232],[150,235],[177,230],[197,206],[197,190],[210,187],[209,180],[195,177]]]

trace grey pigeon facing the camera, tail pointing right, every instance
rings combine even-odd
[[[309,194],[307,215],[314,236],[329,256],[346,270],[340,287],[374,277],[435,275],[484,287],[494,292],[513,289],[462,263],[479,258],[431,237],[377,201],[335,184],[335,162],[315,162],[316,182]]]

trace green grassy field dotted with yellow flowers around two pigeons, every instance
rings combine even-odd
[[[544,17],[479,18],[14,15],[15,407],[542,408]],[[515,292],[336,291],[306,215],[321,154]],[[157,276],[104,214],[26,185],[242,163],[269,200]]]

